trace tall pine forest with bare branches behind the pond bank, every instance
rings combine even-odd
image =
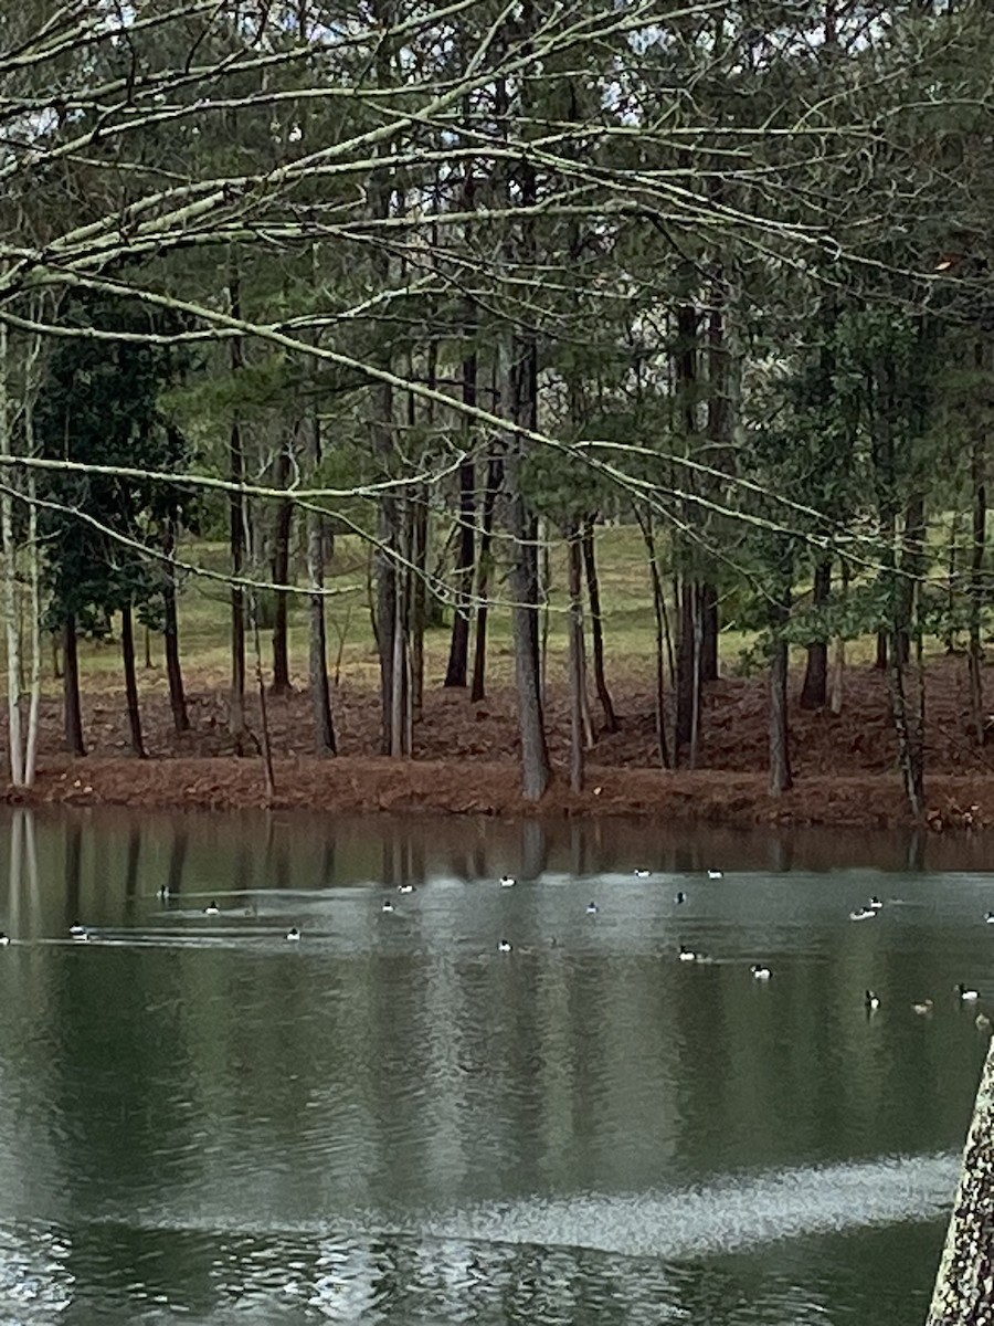
[[[990,70],[971,0],[5,9],[11,784],[53,696],[86,753],[110,642],[134,756],[142,633],[195,725],[197,595],[269,793],[292,690],[307,752],[354,753],[347,598],[383,756],[432,690],[469,721],[500,636],[526,802],[583,789],[612,666],[661,769],[706,762],[721,674],[762,676],[775,798],[861,668],[925,815],[934,668],[981,764],[990,725]]]

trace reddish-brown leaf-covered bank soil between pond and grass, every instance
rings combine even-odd
[[[239,756],[228,735],[223,688],[190,695],[192,728],[172,731],[164,683],[144,674],[142,716],[148,758],[129,751],[123,696],[83,696],[89,754],[62,748],[61,704],[42,704],[37,785],[8,788],[11,802],[69,802],[137,808],[241,809],[266,805],[258,704],[249,704],[250,753]],[[793,679],[799,690],[799,678]],[[884,678],[851,671],[840,715],[791,704],[795,786],[779,798],[766,790],[766,688],[761,679],[722,679],[706,688],[698,768],[659,768],[652,696],[637,682],[615,683],[620,731],[598,733],[587,752],[586,789],[569,790],[569,707],[553,690],[547,723],[557,777],[543,801],[522,801],[517,768],[514,692],[494,690],[481,704],[467,693],[428,687],[415,728],[415,757],[375,754],[378,697],[342,688],[335,695],[341,754],[313,754],[310,700],[298,690],[268,700],[278,808],[326,812],[423,810],[459,814],[636,815],[660,821],[798,823],[888,827],[908,821]],[[928,678],[929,825],[994,826],[994,745],[969,735],[966,670],[941,659]],[[595,715],[596,717],[596,715]],[[3,724],[0,724],[3,727]],[[7,733],[3,732],[4,743]]]

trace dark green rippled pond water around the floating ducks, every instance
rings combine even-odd
[[[0,829],[0,1326],[922,1321],[986,1049],[953,987],[994,1002],[982,843]]]

